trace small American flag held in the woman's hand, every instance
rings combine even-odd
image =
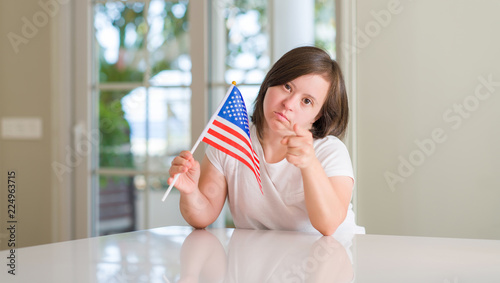
[[[254,173],[263,193],[259,158],[252,148],[247,108],[240,90],[232,86],[222,103],[202,141],[245,164]]]

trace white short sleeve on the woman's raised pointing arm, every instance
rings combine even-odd
[[[345,144],[334,136],[314,141],[314,150],[328,177],[348,176],[354,180],[351,157]]]

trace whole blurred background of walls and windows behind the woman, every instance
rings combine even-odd
[[[301,45],[342,66],[367,233],[500,239],[500,1],[0,3],[0,227],[18,243],[187,225],[172,159]],[[201,160],[203,147],[196,152]],[[232,227],[227,208],[213,224]],[[6,233],[0,232],[0,249]]]

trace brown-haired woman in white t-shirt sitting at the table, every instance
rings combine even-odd
[[[289,51],[267,73],[252,115],[264,194],[253,173],[225,153],[208,147],[200,165],[183,151],[169,171],[182,174],[176,188],[183,217],[204,228],[228,197],[237,228],[363,232],[354,223],[352,165],[339,139],[347,121],[337,63],[316,47]]]

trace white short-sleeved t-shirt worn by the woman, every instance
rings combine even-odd
[[[304,186],[300,169],[286,159],[267,163],[257,138],[256,128],[250,127],[252,146],[260,161],[262,190],[253,172],[235,158],[209,146],[206,155],[225,177],[228,200],[236,228],[271,229],[319,233],[311,224],[304,200]],[[351,159],[346,146],[334,136],[315,139],[314,151],[328,177],[349,176],[354,179]],[[354,221],[349,205],[339,233],[364,233]]]

